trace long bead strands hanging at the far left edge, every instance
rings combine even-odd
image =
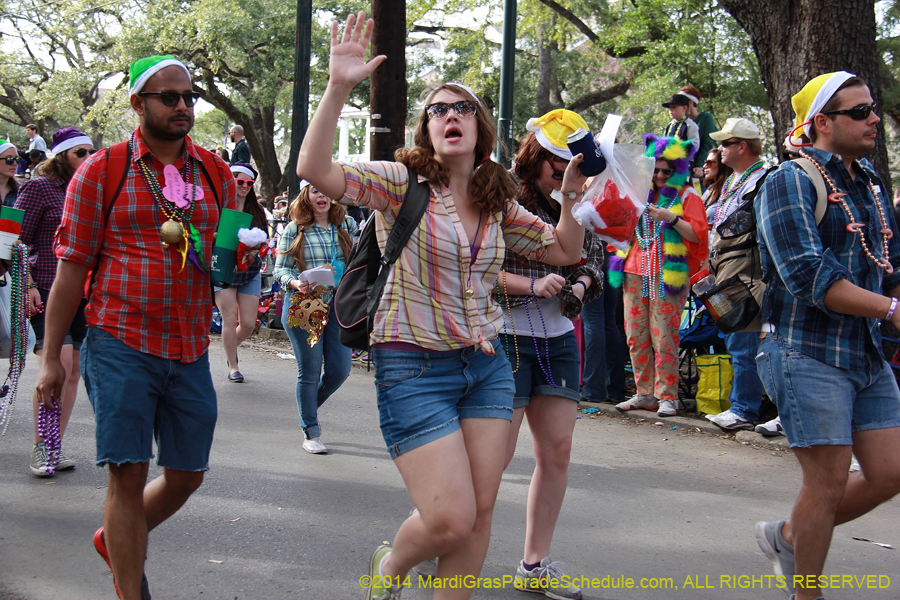
[[[13,405],[19,391],[19,378],[25,370],[25,357],[28,354],[28,248],[22,244],[12,247],[12,264],[9,269],[9,323],[11,333],[11,351],[9,356],[9,372],[6,381],[0,387],[0,425],[3,433],[9,426]]]

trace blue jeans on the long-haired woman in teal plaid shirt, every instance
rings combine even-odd
[[[289,298],[284,300],[281,322],[291,340],[294,356],[297,357],[297,409],[300,411],[300,427],[306,439],[317,438],[322,433],[319,427],[319,407],[335,393],[350,376],[350,348],[338,341],[337,318],[334,306],[328,310],[328,323],[322,337],[312,348],[306,343],[309,333],[300,327],[287,324]],[[322,370],[322,363],[325,370]]]

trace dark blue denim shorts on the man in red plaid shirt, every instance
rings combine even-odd
[[[216,427],[209,355],[192,363],[159,358],[89,327],[81,376],[94,408],[96,465],[144,463],[205,471]]]

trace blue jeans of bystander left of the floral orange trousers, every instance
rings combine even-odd
[[[616,303],[619,290],[611,285],[603,295],[584,305],[584,387],[587,400],[602,402],[625,400],[625,347],[616,325]]]

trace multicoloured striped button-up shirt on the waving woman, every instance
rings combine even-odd
[[[408,187],[406,167],[393,162],[341,166],[347,182],[341,202],[377,211],[376,234],[383,250]],[[547,247],[556,243],[552,225],[512,202],[505,214],[485,216],[481,248],[473,262],[450,190],[441,183],[429,183],[429,188],[425,215],[385,285],[373,344],[408,342],[444,351],[494,339],[503,327],[503,314],[491,291],[506,248],[542,261]]]

